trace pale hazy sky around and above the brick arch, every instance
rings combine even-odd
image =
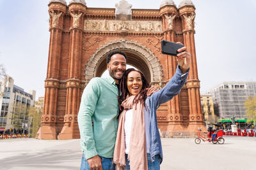
[[[127,0],[134,9],[159,9],[161,0]],[[67,0],[67,4],[70,1]],[[86,0],[115,8],[119,0]],[[174,1],[177,6],[181,0]],[[256,81],[256,0],[192,0],[200,92],[223,81]],[[49,0],[0,0],[0,64],[15,85],[44,96],[49,52]]]

